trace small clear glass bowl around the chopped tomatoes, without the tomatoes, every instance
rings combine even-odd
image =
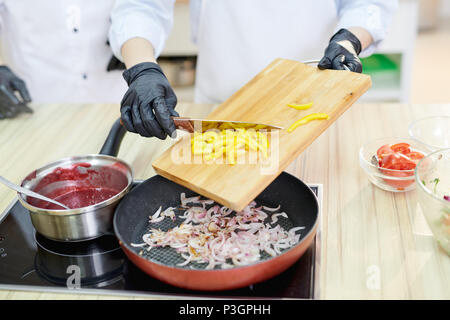
[[[361,168],[367,174],[369,180],[383,190],[405,192],[416,187],[414,169],[394,170],[378,166],[377,150],[386,144],[402,142],[408,143],[414,151],[419,151],[424,155],[429,153],[429,150],[423,144],[411,138],[380,138],[364,144],[359,150],[359,164]]]

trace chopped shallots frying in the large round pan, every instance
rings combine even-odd
[[[200,196],[186,198],[180,196],[182,214],[176,215],[174,207],[162,211],[160,207],[150,216],[150,223],[161,222],[165,218],[184,220],[180,225],[167,231],[152,228],[142,237],[143,243],[132,244],[150,251],[155,247],[175,249],[186,266],[192,262],[207,264],[206,269],[216,267],[227,269],[259,261],[263,253],[277,256],[300,240],[297,231],[304,227],[284,230],[273,226],[278,217],[288,218],[285,212],[277,213],[281,206],[270,208],[250,203],[242,211],[214,204],[212,200],[201,200]],[[187,206],[187,204],[194,206]],[[206,207],[211,205],[210,207]],[[270,223],[266,219],[270,217]]]

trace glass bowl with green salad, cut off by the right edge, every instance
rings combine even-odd
[[[422,213],[434,238],[450,255],[450,148],[420,160],[415,179]]]

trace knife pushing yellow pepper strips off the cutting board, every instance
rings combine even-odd
[[[282,130],[282,127],[273,126],[264,123],[254,123],[245,121],[230,120],[205,120],[187,117],[172,117],[177,129],[187,132],[205,132],[210,129],[226,130],[226,129],[254,129],[254,130]]]

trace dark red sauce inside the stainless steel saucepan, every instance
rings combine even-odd
[[[126,168],[125,168],[126,169]],[[68,168],[56,168],[39,181],[33,191],[61,202],[71,209],[103,202],[128,185],[124,168],[115,164],[93,168],[89,163],[76,163]],[[29,198],[35,207],[60,210],[60,206]]]

